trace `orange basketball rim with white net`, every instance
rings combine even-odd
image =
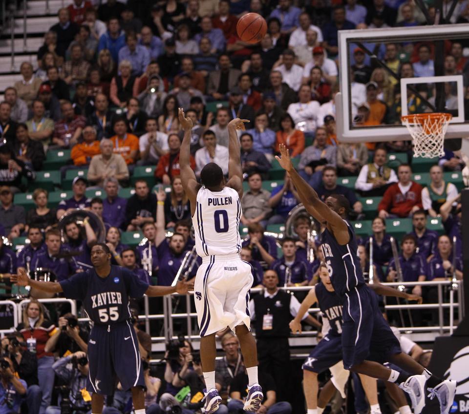
[[[445,113],[412,114],[401,117],[414,145],[414,157],[434,158],[445,154],[443,143],[452,115]]]

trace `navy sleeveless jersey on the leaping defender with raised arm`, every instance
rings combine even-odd
[[[322,232],[321,249],[324,261],[329,271],[332,286],[343,299],[345,293],[357,286],[364,285],[360,259],[357,256],[358,246],[355,233],[347,224],[350,240],[346,245],[340,245],[335,236],[327,229]]]

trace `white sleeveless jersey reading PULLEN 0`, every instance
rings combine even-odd
[[[210,191],[202,186],[197,193],[195,214],[192,217],[197,254],[204,257],[239,253],[240,219],[241,203],[233,188]]]

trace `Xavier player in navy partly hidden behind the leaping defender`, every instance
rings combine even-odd
[[[330,369],[333,374],[332,382],[334,386],[343,393],[348,374],[343,374],[343,365],[338,364],[342,360],[342,301],[335,293],[329,277],[329,271],[324,262],[320,264],[320,283],[316,284],[301,303],[298,314],[290,322],[290,329],[293,333],[301,332],[301,318],[308,309],[317,302],[324,318],[329,325],[329,331],[321,339],[319,344],[310,352],[309,357],[303,364],[303,383],[305,389],[306,405],[308,410],[316,410],[318,404],[318,374]],[[422,298],[417,295],[401,292],[397,289],[388,288],[379,283],[368,285],[377,294],[385,296],[403,297],[408,300],[422,302]],[[376,295],[373,295],[376,296]],[[326,326],[324,323],[323,326]],[[324,331],[323,331],[324,332]],[[378,404],[376,391],[376,381],[370,381],[370,377],[360,375],[363,389],[370,406]],[[373,407],[372,410],[373,412]]]

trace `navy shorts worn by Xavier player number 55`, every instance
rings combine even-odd
[[[125,391],[137,385],[145,387],[137,334],[130,322],[94,325],[89,334],[88,361],[87,391],[111,395],[116,378]]]

